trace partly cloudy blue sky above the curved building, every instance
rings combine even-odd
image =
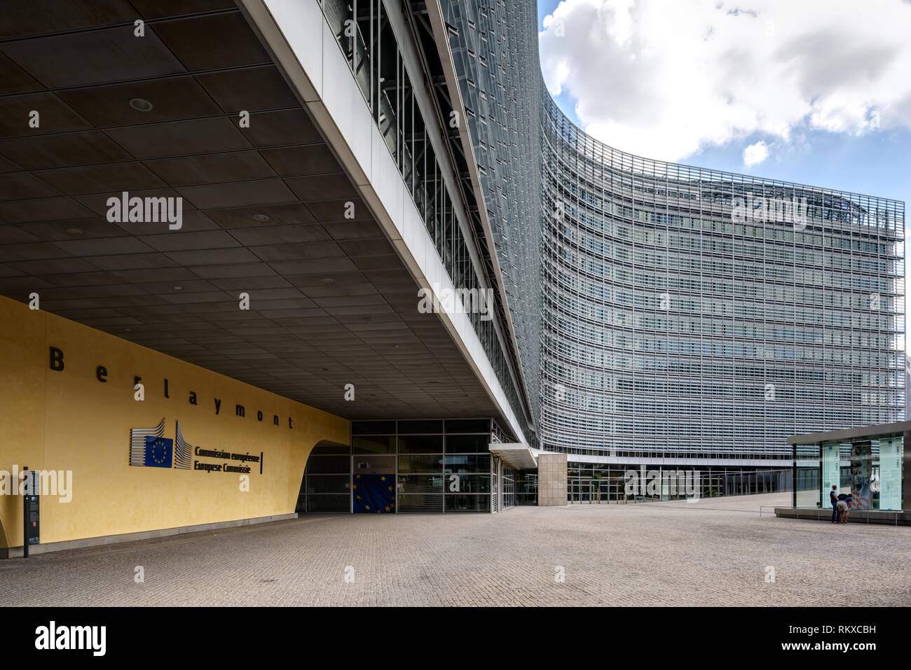
[[[613,147],[896,198],[907,209],[911,3],[763,0],[744,12],[725,2],[539,0],[548,88]],[[816,2],[825,3],[822,22],[800,15]],[[555,22],[568,39],[555,37]],[[744,149],[758,143],[751,165]]]

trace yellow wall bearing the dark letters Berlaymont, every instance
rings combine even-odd
[[[50,370],[49,347],[64,351],[64,371]],[[107,383],[97,381],[98,365]],[[134,375],[145,401],[134,400]],[[263,474],[251,464],[250,492],[241,492],[239,474],[130,466],[130,429],[162,417],[167,438],[179,420],[194,446],[264,452]],[[41,499],[42,544],[292,513],[313,445],[347,444],[350,430],[341,417],[0,297],[0,470],[73,472],[70,503]],[[21,546],[20,496],[0,495],[0,526],[0,547]]]

